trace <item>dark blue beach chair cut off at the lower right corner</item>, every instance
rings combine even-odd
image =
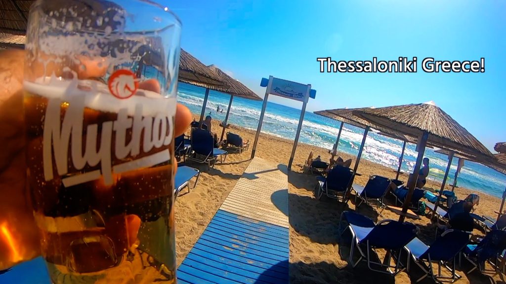
[[[504,249],[506,249],[506,231],[501,230],[491,230],[479,243],[467,245],[462,255],[473,265],[468,273],[476,268],[484,271],[486,261],[497,270],[497,260]]]

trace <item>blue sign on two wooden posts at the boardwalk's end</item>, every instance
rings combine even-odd
[[[302,130],[304,115],[306,113],[306,106],[310,98],[312,99],[316,98],[316,90],[311,89],[311,84],[305,85],[301,83],[275,78],[273,76],[269,76],[269,79],[262,78],[262,82],[260,83],[260,85],[262,87],[267,88],[265,90],[264,104],[262,105],[262,113],[260,114],[260,121],[258,123],[257,135],[255,136],[255,143],[253,144],[253,149],[251,150],[251,159],[255,158],[255,152],[257,150],[258,139],[260,136],[260,132],[262,130],[262,123],[264,120],[264,114],[265,109],[267,107],[267,100],[269,98],[269,94],[273,94],[274,96],[279,96],[291,100],[296,100],[303,103],[301,117],[299,119],[299,126],[297,127],[297,134],[295,136],[293,149],[291,151],[290,160],[288,162],[288,170],[291,170],[293,157],[295,156],[297,144],[299,143],[299,137]]]

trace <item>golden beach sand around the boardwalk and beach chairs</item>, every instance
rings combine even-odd
[[[196,117],[196,116],[195,116]],[[213,121],[212,130],[221,134],[221,127],[218,121]],[[237,133],[243,139],[249,139],[250,144],[255,139],[255,131],[231,126],[227,131]],[[188,162],[189,166],[201,170],[197,186],[187,193],[183,191],[176,202],[176,241],[178,265],[184,260],[188,252],[204,231],[206,225],[213,218],[214,214],[226,199],[229,192],[249,164],[251,146],[248,151],[242,154],[231,153],[223,164],[217,163],[214,169],[207,170],[206,165],[195,162]],[[256,156],[274,163],[287,165],[293,141],[261,134]],[[415,277],[419,275],[416,269],[408,274],[401,272],[395,278],[368,270],[365,262],[352,268],[349,263],[350,236],[344,234],[339,240],[338,227],[339,218],[343,210],[355,210],[354,201],[347,205],[338,203],[335,200],[323,198],[318,201],[313,195],[313,188],[316,184],[315,176],[305,174],[302,165],[309,153],[313,151],[315,157],[321,155],[322,160],[328,161],[330,154],[328,150],[315,146],[299,143],[297,153],[292,165],[292,171],[288,173],[289,193],[289,223],[290,223],[290,283],[414,283]],[[339,153],[345,160],[353,159],[352,167],[356,157]],[[378,165],[366,160],[361,160],[358,173],[362,176],[355,178],[355,183],[365,185],[369,175],[382,175],[395,178],[395,172],[391,168]],[[407,180],[407,175],[401,175],[400,179]],[[440,188],[441,184],[428,181],[426,190]],[[456,188],[456,196],[459,199],[467,197],[474,191],[466,188]],[[476,207],[475,213],[496,216],[494,211],[499,209],[500,199],[478,193],[480,204]],[[386,199],[386,204],[394,205],[392,198]],[[378,214],[367,205],[361,205],[358,212],[373,218],[375,221],[383,219],[399,218],[398,215],[389,211],[383,211],[383,216]],[[420,228],[418,238],[430,244],[434,241],[434,227],[428,217],[421,216],[420,220],[406,219]],[[474,234],[484,235],[483,230],[475,228]],[[382,258],[384,251],[378,252]],[[501,277],[493,273],[480,273],[474,271],[470,274],[465,271],[470,266],[463,263],[463,268],[457,267],[457,273],[462,276],[458,283],[490,283],[490,279],[504,283]],[[491,268],[487,266],[487,268]],[[465,271],[462,271],[465,270]],[[502,282],[501,282],[502,281]],[[431,283],[431,280],[424,280],[421,283]]]

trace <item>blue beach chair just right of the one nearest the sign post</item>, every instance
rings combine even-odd
[[[389,178],[379,175],[372,175],[369,177],[369,180],[365,186],[353,184],[352,190],[356,193],[355,206],[358,208],[362,202],[365,202],[367,205],[372,206],[372,204],[369,203],[369,200],[372,199],[377,201],[377,208],[384,209],[385,204],[383,203],[383,199],[389,190],[390,183],[391,180]],[[357,198],[360,199],[359,203],[357,203]]]

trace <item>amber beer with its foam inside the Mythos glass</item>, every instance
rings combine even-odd
[[[29,186],[54,283],[175,283],[176,99],[25,82]],[[141,281],[142,279],[142,281]]]

